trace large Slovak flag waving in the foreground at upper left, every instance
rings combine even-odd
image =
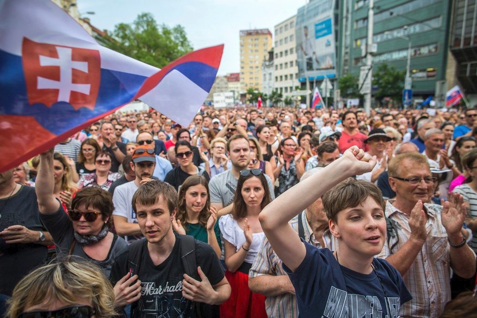
[[[162,70],[100,46],[50,0],[0,0],[0,172],[140,99],[188,125],[223,45]]]

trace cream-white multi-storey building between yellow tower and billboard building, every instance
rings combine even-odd
[[[300,85],[295,40],[296,19],[295,15],[275,26],[273,88],[282,93],[283,99],[292,96],[291,93]]]

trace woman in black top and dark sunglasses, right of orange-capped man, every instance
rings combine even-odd
[[[177,141],[174,146],[174,150],[176,151],[176,159],[179,165],[167,173],[166,177],[164,178],[164,182],[174,186],[178,191],[182,182],[184,182],[185,179],[190,176],[204,176],[207,182],[209,182],[210,177],[207,173],[207,170],[209,169],[208,159],[204,160],[205,169],[200,169],[198,166],[196,166],[192,162],[192,157],[194,155],[192,152],[192,146],[188,141],[185,140]]]

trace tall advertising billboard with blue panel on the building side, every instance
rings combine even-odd
[[[335,1],[314,0],[298,9],[295,36],[300,81],[336,74]]]

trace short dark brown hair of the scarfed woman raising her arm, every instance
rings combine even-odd
[[[98,209],[103,220],[108,219],[106,224],[111,226],[113,222],[114,205],[111,193],[97,187],[86,187],[80,189],[75,198],[71,201],[71,208],[77,209],[81,204]]]

